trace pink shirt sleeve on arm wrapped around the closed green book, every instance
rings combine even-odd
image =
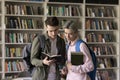
[[[78,66],[72,65],[71,70],[73,72],[79,72],[79,73],[86,73],[94,70],[94,64],[88,47],[84,43],[81,43],[80,50],[85,55],[84,64]]]

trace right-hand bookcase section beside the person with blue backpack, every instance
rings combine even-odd
[[[86,4],[85,38],[97,55],[97,79],[119,77],[119,5]]]

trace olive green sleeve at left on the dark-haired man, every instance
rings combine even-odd
[[[42,60],[40,60],[40,42],[38,37],[36,37],[32,42],[31,48],[31,63],[35,66],[43,66]]]

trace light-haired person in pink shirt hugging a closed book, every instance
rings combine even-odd
[[[90,72],[94,69],[92,58],[89,52],[88,47],[85,43],[81,43],[80,51],[83,52],[84,63],[80,65],[72,65],[71,63],[71,52],[75,52],[75,43],[79,40],[79,32],[77,29],[77,23],[75,21],[67,21],[64,25],[65,38],[69,43],[69,48],[67,50],[67,78],[66,80],[91,80],[87,72]],[[63,71],[64,74],[64,71]]]

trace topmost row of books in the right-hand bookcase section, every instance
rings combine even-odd
[[[86,8],[86,16],[89,17],[116,17],[115,9],[113,7],[90,7]]]

